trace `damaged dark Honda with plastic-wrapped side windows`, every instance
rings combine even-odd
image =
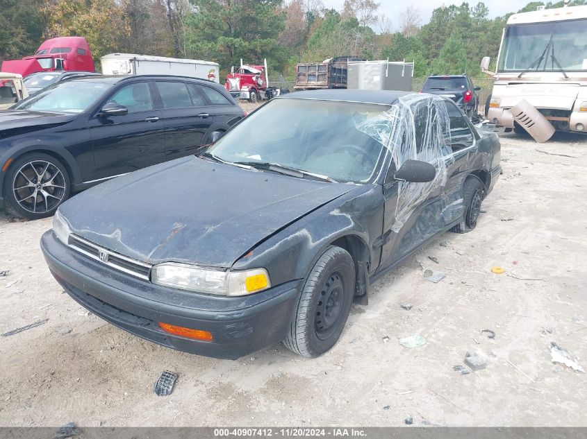
[[[477,225],[499,148],[438,96],[289,94],[205,153],[68,200],[41,246],[74,300],[149,341],[319,356],[377,277]]]

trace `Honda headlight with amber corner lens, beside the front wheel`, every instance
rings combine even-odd
[[[188,291],[217,295],[247,295],[270,288],[265,268],[245,271],[210,270],[165,262],[151,269],[151,282]]]

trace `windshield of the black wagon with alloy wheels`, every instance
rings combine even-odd
[[[15,110],[81,113],[88,110],[112,84],[73,80],[57,83],[13,107]]]

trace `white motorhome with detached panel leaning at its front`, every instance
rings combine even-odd
[[[509,17],[494,78],[487,116],[498,126],[586,131],[587,6]]]

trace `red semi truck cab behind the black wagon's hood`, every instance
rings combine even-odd
[[[0,71],[24,78],[38,71],[95,71],[88,42],[83,37],[58,37],[43,42],[35,55],[22,60],[3,61]]]

